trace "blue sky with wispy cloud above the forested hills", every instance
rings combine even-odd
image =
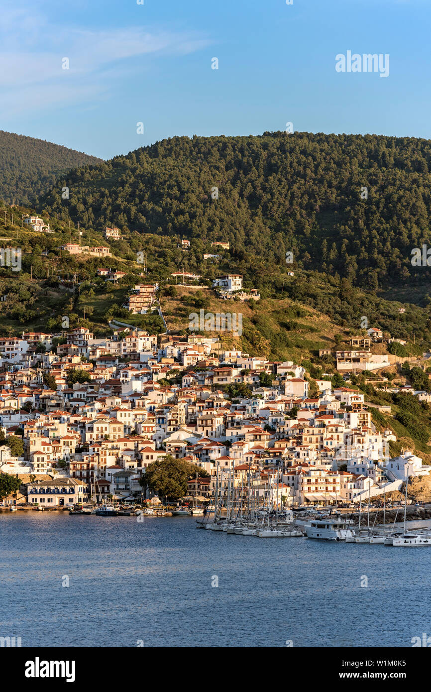
[[[286,122],[431,138],[430,0],[144,1],[0,0],[0,129],[102,158]],[[389,77],[337,73],[348,50]]]

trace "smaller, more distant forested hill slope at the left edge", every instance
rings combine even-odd
[[[35,203],[57,177],[76,166],[100,163],[51,142],[0,130],[0,199],[8,203]]]

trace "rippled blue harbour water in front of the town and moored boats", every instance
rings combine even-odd
[[[428,550],[29,511],[0,515],[0,551],[0,636],[23,647],[410,647],[431,634]]]

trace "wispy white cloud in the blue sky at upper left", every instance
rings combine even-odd
[[[187,55],[210,41],[192,32],[123,27],[89,30],[53,24],[28,10],[9,8],[0,24],[0,88],[3,115],[31,107],[87,103],[108,96],[133,58]],[[67,57],[69,69],[62,69]],[[143,65],[140,64],[140,69]],[[117,82],[116,82],[117,80]],[[6,111],[6,113],[5,113]]]

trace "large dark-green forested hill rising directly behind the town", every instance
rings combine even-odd
[[[43,202],[85,228],[229,240],[232,259],[271,271],[291,252],[293,266],[369,291],[410,291],[430,280],[411,262],[428,242],[430,170],[431,142],[415,138],[175,137],[73,170]]]

